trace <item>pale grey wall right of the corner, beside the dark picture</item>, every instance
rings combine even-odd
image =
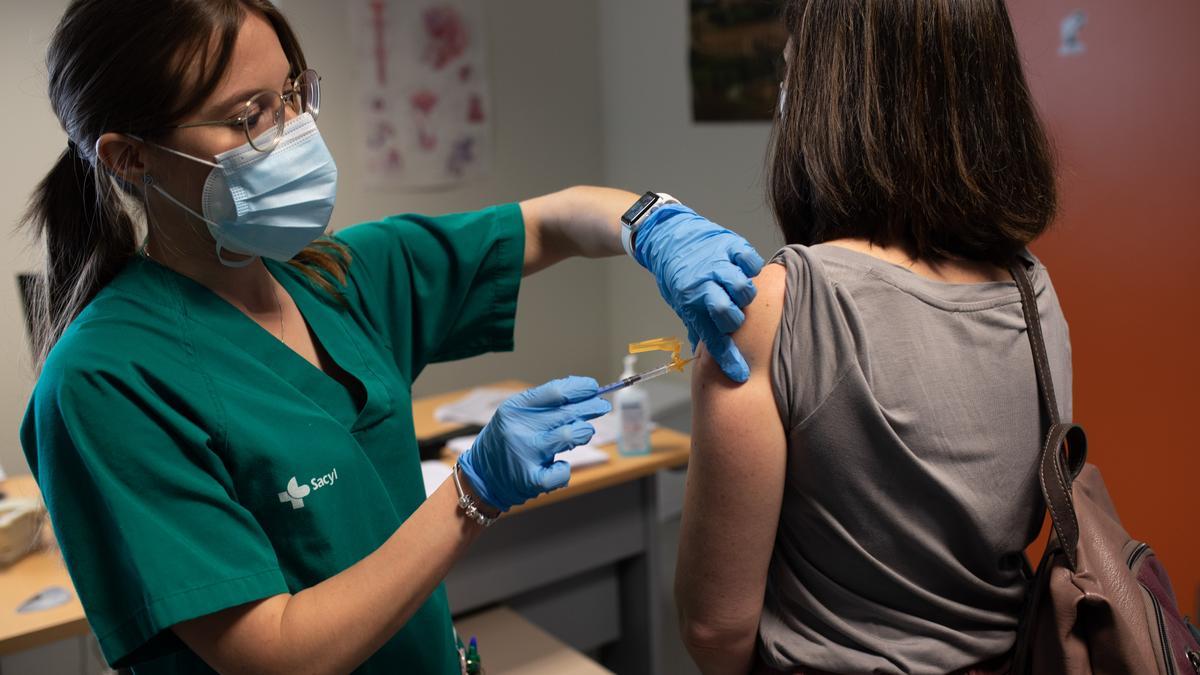
[[[764,258],[781,244],[764,207],[769,125],[695,124],[688,66],[688,0],[600,2],[605,180],[668,192],[739,232]],[[608,274],[610,354],[625,344],[686,336],[632,261]]]

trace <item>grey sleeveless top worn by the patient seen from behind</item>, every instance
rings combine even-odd
[[[1070,342],[1030,268],[1063,420]],[[1020,295],[829,245],[787,246],[772,381],[787,480],[758,628],[779,669],[947,673],[1004,653],[1042,522]]]

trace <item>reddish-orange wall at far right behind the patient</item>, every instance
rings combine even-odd
[[[1070,324],[1075,422],[1130,534],[1200,613],[1200,2],[1009,0],[1055,142],[1061,204],[1034,245]],[[1058,24],[1088,14],[1086,52]]]

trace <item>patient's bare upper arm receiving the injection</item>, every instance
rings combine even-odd
[[[750,365],[730,381],[703,354],[692,371],[692,454],[680,533],[677,599],[685,623],[731,634],[762,611],[787,466],[787,441],[770,382],[785,274],[768,264],[734,341]]]

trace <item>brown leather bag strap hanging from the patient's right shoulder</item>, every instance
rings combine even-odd
[[[1033,293],[1033,283],[1025,271],[1024,262],[1014,261],[1008,271],[1021,292],[1021,311],[1025,315],[1026,334],[1033,350],[1038,393],[1042,407],[1050,420],[1045,444],[1039,458],[1038,480],[1050,522],[1054,525],[1063,555],[1072,569],[1076,569],[1079,544],[1079,520],[1070,496],[1070,484],[1084,467],[1087,456],[1087,437],[1078,424],[1063,424],[1058,414],[1058,401],[1054,393],[1050,358],[1046,356],[1045,338],[1042,335],[1042,317]]]

